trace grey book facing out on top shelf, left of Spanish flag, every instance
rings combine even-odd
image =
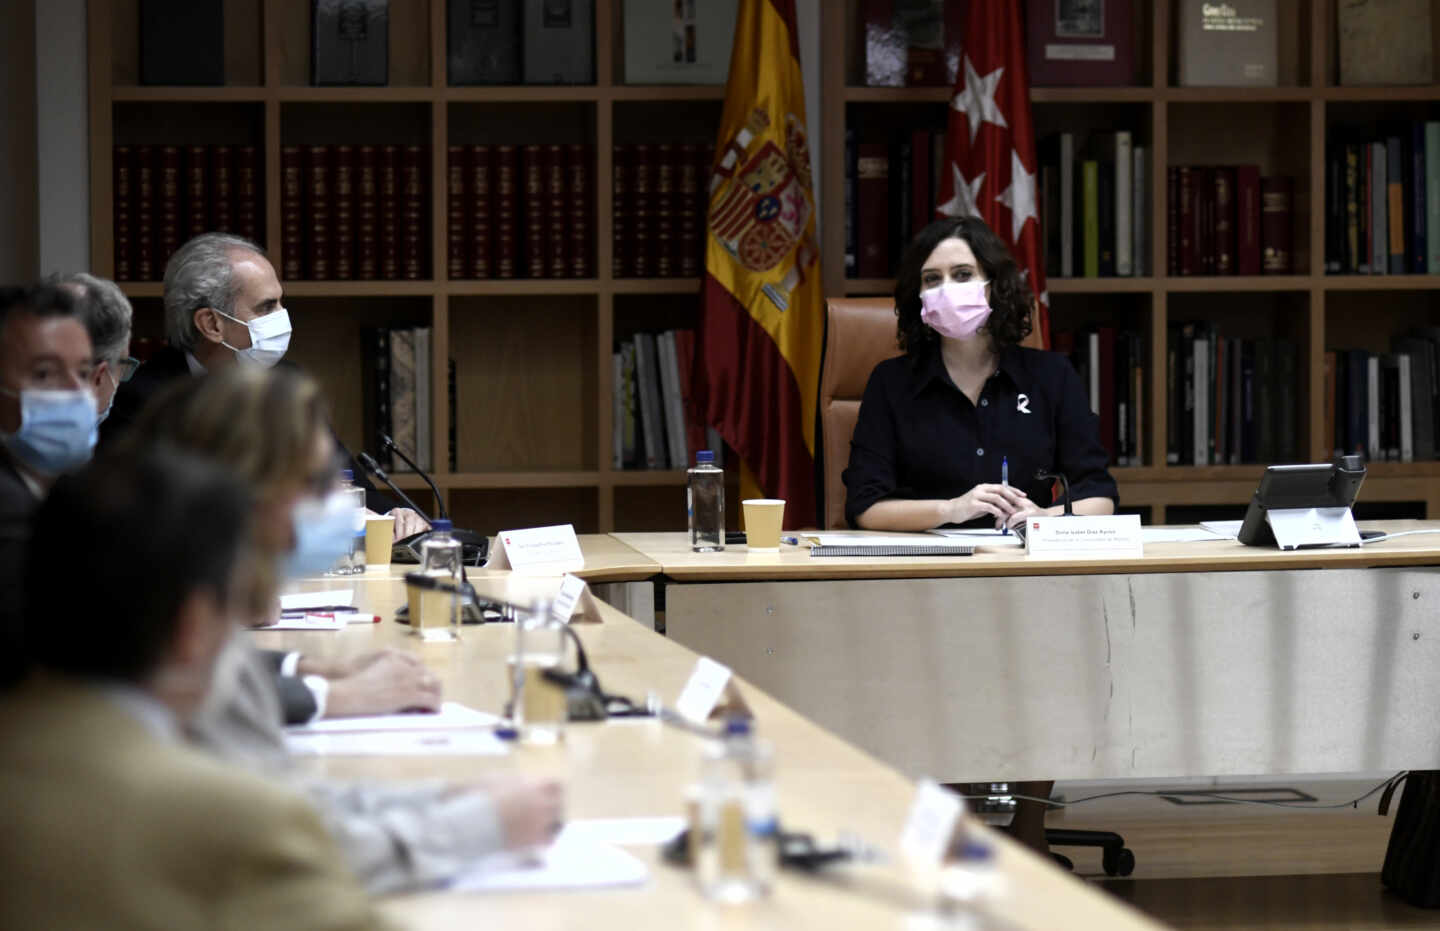
[[[739,0],[625,0],[625,83],[724,83]]]

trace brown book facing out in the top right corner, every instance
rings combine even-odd
[[[1342,85],[1434,81],[1430,0],[1344,0],[1335,26]]]

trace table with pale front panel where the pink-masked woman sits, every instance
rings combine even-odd
[[[660,564],[668,637],[910,777],[1440,768],[1440,535],[1149,544],[1139,560],[615,537]]]

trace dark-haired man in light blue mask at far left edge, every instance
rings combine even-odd
[[[0,288],[0,663],[16,655],[30,515],[95,448],[94,350],[78,304],[50,285]]]

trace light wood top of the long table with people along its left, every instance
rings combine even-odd
[[[467,627],[462,642],[420,643],[389,620],[403,603],[397,580],[361,577],[360,607],[382,614],[377,625],[341,632],[255,632],[259,646],[312,655],[350,655],[392,646],[420,656],[445,682],[446,698],[498,709],[507,695],[505,656],[514,630],[507,625]],[[337,584],[338,583],[338,584]],[[301,590],[340,587],[343,580],[300,583]],[[553,590],[557,580],[517,576],[480,577],[485,597],[524,599]],[[602,604],[602,623],[577,627],[590,665],[609,692],[642,699],[651,689],[672,702],[696,655]],[[740,684],[759,732],[776,745],[776,791],[782,822],[831,842],[858,833],[894,849],[913,786],[897,771],[822,731],[763,692]],[[560,747],[518,747],[504,757],[330,757],[307,767],[336,778],[477,780],[498,773],[553,774],[566,783],[570,817],[680,814],[683,791],[694,780],[701,738],[654,719],[572,724]],[[979,827],[979,830],[986,830]],[[979,925],[1014,928],[1155,928],[1143,915],[1060,872],[999,835],[1001,892]],[[462,895],[435,892],[400,896],[386,909],[406,927],[629,928],[665,921],[671,927],[948,927],[933,898],[894,865],[832,871],[818,878],[783,872],[775,894],[749,907],[711,904],[691,876],[660,860],[657,849],[632,848],[651,868],[641,889],[567,894]]]

